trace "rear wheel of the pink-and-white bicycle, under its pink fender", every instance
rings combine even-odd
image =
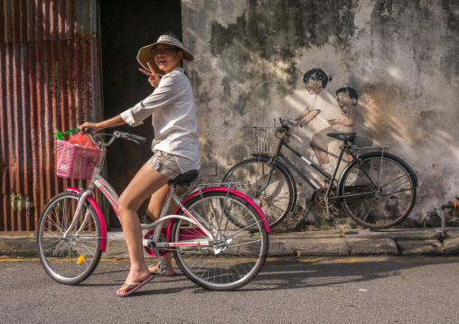
[[[251,282],[265,264],[268,246],[266,228],[255,208],[245,199],[222,191],[203,192],[184,207],[202,218],[202,225],[212,237],[177,218],[172,241],[212,243],[176,246],[173,256],[182,272],[192,282],[212,291],[233,291]],[[238,226],[230,218],[236,219]]]

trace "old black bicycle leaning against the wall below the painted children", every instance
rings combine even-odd
[[[279,119],[281,126],[276,132],[279,137],[276,152],[272,155],[252,154],[252,158],[236,163],[223,177],[223,181],[249,181],[250,186],[243,192],[252,199],[261,199],[271,228],[279,225],[296,204],[295,179],[286,165],[313,188],[314,200],[326,210],[327,221],[333,220],[330,210],[340,200],[345,213],[362,227],[384,229],[407,218],[416,201],[417,174],[406,162],[387,153],[388,146],[356,147],[353,144],[355,133],[328,134],[342,142],[338,162],[330,174],[288,144],[292,127],[298,122],[287,117]],[[319,171],[326,185],[323,188],[314,185],[281,152],[284,147]],[[376,151],[361,155],[354,153],[361,149]],[[352,160],[338,174],[344,153]]]

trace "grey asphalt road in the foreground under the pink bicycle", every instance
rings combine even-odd
[[[180,273],[118,298],[126,260],[102,260],[77,286],[37,260],[0,259],[2,323],[458,323],[459,256],[269,259],[236,292]]]

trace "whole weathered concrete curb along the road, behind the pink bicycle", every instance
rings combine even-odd
[[[325,230],[273,233],[269,236],[269,256],[351,256],[351,255],[458,255],[459,228],[446,228],[442,239],[436,228],[371,231]],[[0,255],[36,257],[33,232],[0,235]],[[102,257],[127,258],[121,231],[108,232],[107,251]],[[145,253],[145,257],[151,257]]]

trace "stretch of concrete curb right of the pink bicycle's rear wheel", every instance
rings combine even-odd
[[[459,228],[369,229],[281,233],[269,236],[269,255],[456,255]]]

